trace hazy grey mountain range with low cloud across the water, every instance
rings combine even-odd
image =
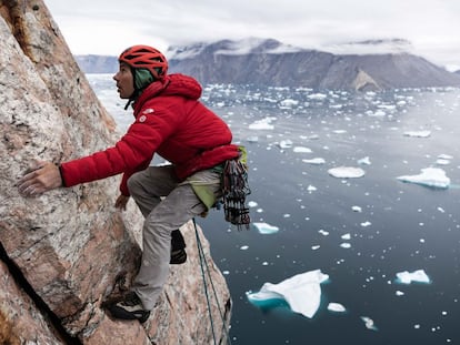
[[[170,72],[193,75],[201,83],[346,90],[460,87],[460,74],[409,50],[410,42],[404,40],[349,43],[334,47],[332,51],[340,53],[333,53],[296,48],[272,39],[246,39],[171,47],[166,55]],[[113,57],[98,60],[88,55],[77,61],[88,73],[117,70]]]

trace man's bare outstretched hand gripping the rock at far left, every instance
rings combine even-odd
[[[59,168],[51,162],[37,162],[26,171],[18,182],[19,193],[24,196],[37,196],[62,186]]]

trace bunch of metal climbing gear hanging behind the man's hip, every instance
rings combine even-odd
[[[222,200],[226,221],[237,225],[238,230],[244,226],[249,230],[251,222],[249,209],[246,206],[246,196],[251,193],[248,185],[248,170],[240,160],[228,160],[222,173]]]

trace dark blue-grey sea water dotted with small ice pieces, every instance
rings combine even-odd
[[[124,131],[131,112],[111,75],[88,79]],[[460,344],[459,89],[213,84],[202,100],[248,149],[252,221],[278,229],[238,232],[216,210],[197,220],[232,295],[231,344]],[[329,172],[343,166],[364,174]],[[442,171],[448,187],[398,180],[427,168]],[[329,280],[311,318],[286,302],[248,301],[267,282],[313,270]],[[428,284],[397,280],[418,270]]]

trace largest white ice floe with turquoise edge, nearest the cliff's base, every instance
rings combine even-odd
[[[313,317],[321,303],[321,283],[329,275],[321,270],[309,271],[287,278],[278,284],[264,283],[259,292],[247,292],[249,302],[259,307],[270,307],[280,300],[286,301],[294,313]]]

